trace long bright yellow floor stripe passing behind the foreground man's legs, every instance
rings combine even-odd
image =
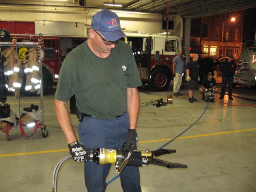
[[[228,134],[228,133],[237,133],[237,132],[245,132],[245,131],[254,131],[254,130],[256,130],[256,128],[236,130],[236,131],[227,131],[227,132],[218,132],[218,133],[203,134],[203,135],[186,136],[186,137],[178,137],[176,139],[206,137],[206,136],[221,135],[221,134]],[[172,138],[160,139],[160,140],[151,140],[151,141],[140,141],[138,143],[152,143],[152,142],[170,141],[170,140],[172,140]],[[52,153],[52,152],[62,152],[62,151],[68,151],[68,149],[36,151],[36,152],[26,152],[26,153],[13,153],[13,154],[2,154],[2,155],[0,154],[0,157],[18,156],[18,155],[30,155],[30,154],[41,154],[41,153]]]

